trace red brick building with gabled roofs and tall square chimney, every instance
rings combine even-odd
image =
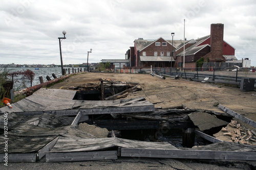
[[[144,40],[139,38],[130,47],[131,66],[139,67],[183,67],[185,53],[185,67],[196,67],[196,62],[204,58],[207,62],[225,62],[237,60],[234,56],[235,48],[223,40],[224,25],[211,24],[210,35],[191,40]],[[185,42],[185,52],[184,52]]]

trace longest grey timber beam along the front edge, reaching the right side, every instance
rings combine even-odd
[[[200,151],[200,150],[164,150],[122,148],[123,157],[182,158],[182,159],[222,159],[256,160],[256,152],[236,151]]]

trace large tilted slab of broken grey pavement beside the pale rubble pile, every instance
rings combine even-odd
[[[205,112],[194,112],[188,114],[194,125],[198,126],[200,131],[208,130],[215,127],[227,125],[228,123],[224,120],[217,118],[214,115]]]

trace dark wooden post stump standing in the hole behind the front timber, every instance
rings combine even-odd
[[[192,148],[195,144],[195,128],[187,128],[182,131],[183,147]]]

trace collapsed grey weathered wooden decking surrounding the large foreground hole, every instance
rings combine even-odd
[[[111,138],[97,138],[78,130],[76,126],[79,121],[86,119],[88,115],[115,113],[133,113],[126,116],[158,119],[167,122],[168,125],[172,125],[174,119],[159,117],[165,113],[153,112],[154,105],[142,98],[117,101],[73,101],[74,93],[68,90],[54,89],[54,92],[49,89],[43,90],[48,92],[47,95],[45,91],[39,91],[13,104],[12,110],[6,107],[0,110],[2,114],[8,111],[8,138],[4,135],[0,136],[1,148],[5,147],[4,141],[8,140],[8,162],[105,160],[117,159],[118,156],[256,160],[255,147],[243,145],[241,150],[233,151],[236,143],[218,141],[217,147],[218,143],[215,143],[214,147],[185,150],[178,149],[168,142],[128,140],[114,135]],[[66,99],[63,99],[62,95],[66,96]],[[53,107],[54,111],[51,110]],[[58,110],[62,108],[66,110]],[[145,117],[143,112],[150,112],[151,116]],[[1,115],[1,127],[4,127],[3,120],[4,115]],[[220,146],[224,144],[228,144],[229,147],[226,147],[226,150],[224,148],[220,150]],[[241,145],[239,147],[241,148]],[[0,162],[4,161],[4,156],[5,153],[2,150]]]

